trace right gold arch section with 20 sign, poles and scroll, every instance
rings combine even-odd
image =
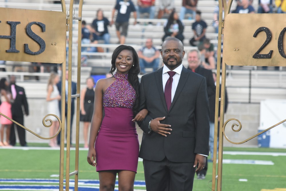
[[[228,2],[226,0],[218,0],[219,2],[218,23],[220,27],[218,28],[219,30],[218,30],[218,58],[217,58],[216,84],[220,84],[220,73],[221,73],[222,74],[222,80],[221,80],[222,89],[221,89],[221,95],[219,95],[219,85],[216,86],[216,110],[215,110],[214,154],[213,154],[214,160],[213,160],[213,167],[212,167],[212,190],[214,191],[222,190],[223,136],[228,142],[232,144],[243,144],[259,136],[260,134],[286,122],[286,119],[285,119],[269,127],[268,129],[262,132],[259,132],[258,134],[251,136],[250,138],[244,141],[241,141],[241,142],[233,142],[231,141],[230,138],[226,136],[225,128],[226,128],[226,125],[230,123],[231,121],[235,121],[231,125],[232,131],[239,132],[242,129],[242,124],[238,119],[231,118],[231,119],[226,120],[226,122],[224,122],[226,65],[286,66],[286,55],[285,55],[286,20],[285,20],[285,17],[283,17],[284,14],[230,13],[230,7],[232,5],[232,1],[233,0],[229,0]],[[222,3],[224,5],[224,10],[222,9]],[[224,11],[224,18],[222,17],[223,11]],[[273,22],[274,20],[278,20],[281,23],[277,24],[277,22]],[[264,34],[260,33],[261,31],[265,32],[266,35],[265,33]],[[272,36],[274,39],[271,40]],[[224,41],[223,43],[224,57],[223,57],[222,68],[221,68],[220,63],[221,63],[221,53],[222,53],[222,37]],[[277,39],[278,39],[278,46],[277,46]],[[252,41],[253,43],[251,43]],[[263,44],[264,41],[265,43]],[[264,47],[267,46],[267,48],[265,48],[267,50],[262,50],[264,49],[263,46]],[[283,47],[285,47],[285,50],[283,49]],[[269,52],[269,49],[271,49],[270,52]],[[220,104],[220,114],[218,113],[219,104]],[[221,123],[219,126],[220,139],[219,139],[219,145],[218,145],[218,165],[217,165],[216,158],[217,158],[217,140],[218,140],[218,115],[220,115]],[[235,126],[238,128],[235,128]],[[217,172],[216,172],[216,169],[217,169]]]

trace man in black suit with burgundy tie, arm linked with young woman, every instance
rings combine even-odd
[[[196,166],[203,169],[209,153],[206,79],[182,65],[184,55],[179,39],[166,39],[164,66],[141,78],[140,109],[149,112],[139,123],[147,191],[192,190]]]

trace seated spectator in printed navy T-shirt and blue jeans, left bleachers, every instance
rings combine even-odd
[[[104,40],[104,44],[110,44],[110,34],[107,28],[110,24],[109,20],[104,17],[103,11],[98,9],[96,19],[92,21],[92,32],[97,35],[97,39],[94,40]]]

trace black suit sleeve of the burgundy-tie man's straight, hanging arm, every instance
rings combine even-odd
[[[210,110],[208,104],[208,94],[206,79],[203,78],[198,89],[196,109],[196,146],[195,153],[208,155],[209,154],[209,137],[210,137]]]

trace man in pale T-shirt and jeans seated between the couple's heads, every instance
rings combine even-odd
[[[138,51],[140,70],[145,74],[145,68],[153,68],[153,71],[159,68],[159,55],[160,52],[153,46],[152,39],[146,39],[145,46]]]

